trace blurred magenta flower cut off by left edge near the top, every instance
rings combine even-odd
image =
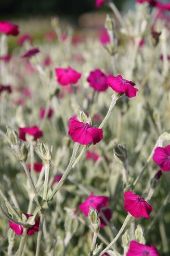
[[[19,33],[19,28],[12,22],[1,20],[0,21],[0,32],[4,34],[11,34],[12,36],[17,36]]]

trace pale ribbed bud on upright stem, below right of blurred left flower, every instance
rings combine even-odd
[[[49,149],[47,145],[37,140],[36,153],[43,160],[45,164],[51,161],[52,147]]]

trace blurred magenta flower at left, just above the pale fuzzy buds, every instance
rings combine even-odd
[[[37,138],[40,138],[43,136],[43,132],[38,128],[38,126],[32,126],[32,127],[19,127],[19,138],[22,139],[22,141],[26,141],[25,135],[30,134],[34,137],[34,141],[37,140]]]

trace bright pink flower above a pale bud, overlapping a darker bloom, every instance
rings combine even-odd
[[[79,209],[87,217],[90,206],[100,212],[100,209],[106,207],[109,203],[108,196],[94,195],[93,192],[87,197],[86,201],[79,205]]]

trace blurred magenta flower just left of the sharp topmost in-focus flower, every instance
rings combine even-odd
[[[108,89],[106,80],[107,76],[104,75],[100,69],[91,71],[87,77],[87,81],[90,84],[90,87],[93,87],[96,91],[106,91]]]

